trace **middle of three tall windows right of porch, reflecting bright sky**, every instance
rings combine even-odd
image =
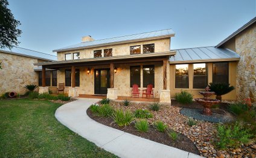
[[[208,73],[206,68],[206,63],[193,64],[194,67],[194,78],[193,78],[193,88],[194,89],[204,89],[208,83]]]

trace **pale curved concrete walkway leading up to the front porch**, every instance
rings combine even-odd
[[[56,110],[55,116],[63,125],[119,157],[200,157],[178,148],[134,136],[115,128],[100,124],[86,114],[86,110],[97,99],[79,98]]]

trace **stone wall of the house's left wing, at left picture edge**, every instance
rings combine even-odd
[[[0,94],[5,92],[25,93],[27,84],[38,84],[38,75],[34,72],[36,58],[0,52]]]

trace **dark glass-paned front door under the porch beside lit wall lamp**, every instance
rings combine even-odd
[[[110,87],[109,69],[94,70],[94,93],[107,94],[107,88]]]

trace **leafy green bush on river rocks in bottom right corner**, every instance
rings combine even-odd
[[[232,125],[219,124],[216,146],[220,149],[237,148],[241,144],[248,143],[250,137],[252,137],[252,134],[249,134],[249,130],[243,128],[238,122]]]

